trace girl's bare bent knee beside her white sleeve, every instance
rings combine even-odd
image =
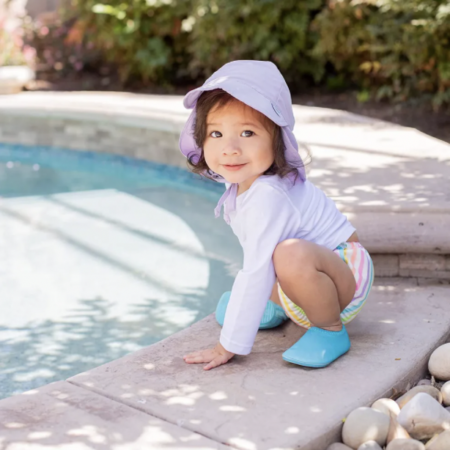
[[[283,273],[299,273],[300,267],[301,272],[305,273],[309,267],[314,266],[308,242],[303,239],[286,239],[280,242],[273,252],[273,263],[279,278],[283,277]]]

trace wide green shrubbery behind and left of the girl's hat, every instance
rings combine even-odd
[[[311,16],[324,0],[72,0],[72,35],[101,49],[121,79],[175,84],[235,59],[274,61],[288,79],[319,79],[308,52]]]

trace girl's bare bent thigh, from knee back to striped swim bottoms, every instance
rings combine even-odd
[[[305,278],[312,270],[319,271],[336,286],[341,311],[352,301],[356,290],[355,277],[334,251],[302,239],[288,239],[277,246],[273,260],[281,283],[287,279],[298,279],[301,284],[307,281]]]

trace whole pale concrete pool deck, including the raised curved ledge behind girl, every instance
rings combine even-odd
[[[0,97],[0,142],[63,146],[75,136],[74,149],[119,152],[128,136],[153,132],[164,155],[146,154],[139,143],[134,156],[184,166],[176,147],[188,115],[181,100]],[[248,357],[204,372],[182,356],[217,341],[220,328],[209,316],[124,358],[0,401],[1,450],[325,450],[352,409],[425,373],[428,356],[450,334],[450,145],[343,111],[294,109],[296,136],[313,152],[309,177],[355,224],[376,272],[390,277],[376,280],[349,324],[348,355],[320,370],[282,361],[302,334],[289,323],[260,332]]]

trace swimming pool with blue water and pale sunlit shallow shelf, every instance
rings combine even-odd
[[[241,264],[223,186],[122,156],[0,144],[0,398],[214,311]]]

